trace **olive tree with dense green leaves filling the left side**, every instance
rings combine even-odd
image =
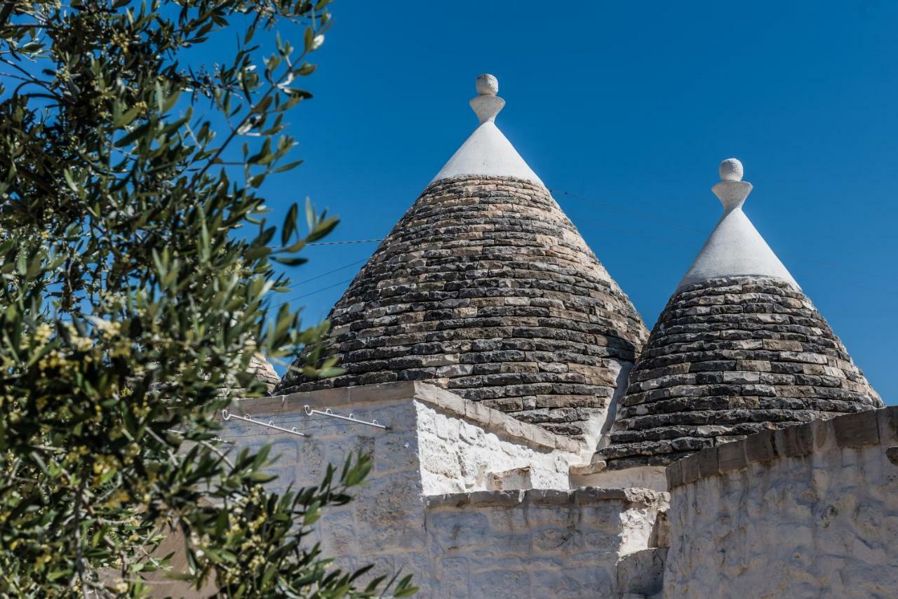
[[[294,204],[269,225],[260,195],[297,164],[285,117],[326,4],[0,2],[0,595],[145,595],[172,531],[179,576],[220,595],[413,592],[308,539],[364,456],[275,495],[267,450],[215,440],[233,396],[265,392],[255,355],[337,372],[328,324],[272,307],[274,262],[336,220]],[[217,65],[187,60],[209,40]]]

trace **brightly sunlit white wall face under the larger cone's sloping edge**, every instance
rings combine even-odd
[[[577,454],[548,450],[497,436],[416,401],[418,459],[425,495],[488,489],[492,472],[529,467],[533,489],[568,489]]]

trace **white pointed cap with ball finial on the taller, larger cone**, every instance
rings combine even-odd
[[[496,115],[505,106],[505,101],[496,95],[496,77],[480,75],[477,78],[477,92],[480,95],[471,100],[471,109],[477,114],[480,127],[474,130],[430,182],[463,175],[493,175],[515,177],[542,185],[515,146],[496,127]]]

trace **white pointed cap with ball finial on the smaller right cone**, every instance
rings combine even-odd
[[[711,190],[724,205],[724,214],[699,251],[677,290],[710,278],[735,275],[776,277],[798,287],[795,278],[770,250],[742,206],[752,184],[741,181],[742,163],[729,158],[720,165],[720,181]]]

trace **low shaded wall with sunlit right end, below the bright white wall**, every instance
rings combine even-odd
[[[622,555],[646,550],[666,494],[530,490],[427,498],[433,597],[609,597]]]

